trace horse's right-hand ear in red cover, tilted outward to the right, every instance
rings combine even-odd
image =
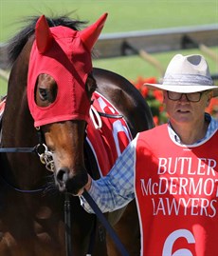
[[[100,36],[100,32],[103,29],[106,18],[107,13],[104,13],[100,16],[100,19],[98,21],[96,21],[94,24],[87,27],[86,29],[80,31],[80,37],[82,39],[82,42],[90,51],[91,49],[93,49],[96,41]]]

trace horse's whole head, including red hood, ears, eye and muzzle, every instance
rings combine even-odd
[[[36,24],[28,67],[28,107],[52,152],[56,184],[62,191],[77,193],[87,182],[83,143],[97,87],[91,49],[106,16],[80,31],[49,28],[45,16]]]

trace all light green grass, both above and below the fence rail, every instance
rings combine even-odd
[[[0,0],[0,42],[6,42],[20,30],[23,24],[19,21],[25,16],[64,14],[73,10],[71,17],[89,24],[108,12],[103,33],[218,24],[218,0]],[[217,48],[214,50],[218,52]],[[198,52],[198,49],[182,51],[184,54]],[[175,53],[158,53],[154,57],[166,67]],[[217,65],[208,61],[211,73],[217,73]],[[130,80],[138,76],[159,77],[158,71],[138,56],[94,60],[93,63]],[[0,94],[4,93],[6,83],[0,79]]]

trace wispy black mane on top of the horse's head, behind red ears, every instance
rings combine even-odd
[[[79,21],[69,18],[69,14],[65,14],[59,17],[47,17],[46,20],[49,27],[64,26],[72,30],[81,30],[82,27],[87,23],[86,21]],[[15,36],[13,36],[8,44],[7,51],[9,55],[9,65],[12,65],[17,59],[21,50],[27,43],[28,38],[34,33],[35,25],[40,16],[30,16],[23,20],[26,27],[20,30]]]

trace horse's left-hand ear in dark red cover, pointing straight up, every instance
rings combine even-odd
[[[44,53],[50,47],[53,40],[45,15],[42,15],[36,23],[35,37],[37,49],[40,53]]]

